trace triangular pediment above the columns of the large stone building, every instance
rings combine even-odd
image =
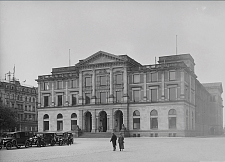
[[[110,62],[124,62],[125,60],[110,54],[110,53],[106,53],[103,51],[99,51],[93,55],[91,55],[90,57],[81,60],[79,62],[79,65],[93,65],[93,64],[100,64],[100,63],[110,63]]]

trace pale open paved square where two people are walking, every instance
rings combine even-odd
[[[225,162],[225,137],[125,138],[125,149],[112,151],[107,138],[77,138],[71,146],[0,150],[1,162]]]

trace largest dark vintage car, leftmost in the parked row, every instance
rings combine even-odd
[[[8,132],[5,137],[1,139],[2,147],[6,147],[7,150],[12,149],[12,147],[20,148],[25,146],[25,148],[30,147],[30,139],[33,136],[33,132]]]

